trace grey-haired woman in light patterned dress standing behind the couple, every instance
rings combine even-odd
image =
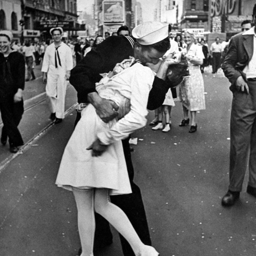
[[[197,131],[196,112],[205,109],[204,80],[200,71],[203,64],[204,53],[202,47],[195,44],[195,35],[185,31],[184,41],[187,44],[185,57],[189,65],[189,77],[184,78],[180,84],[180,101],[183,105],[184,119],[179,126],[189,124],[189,111],[191,113],[191,126],[189,133]]]

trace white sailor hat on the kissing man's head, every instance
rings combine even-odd
[[[168,26],[168,23],[148,21],[136,26],[131,34],[139,44],[155,44],[168,37]]]

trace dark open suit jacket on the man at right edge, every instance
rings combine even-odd
[[[231,83],[231,91],[236,90],[236,79],[239,76],[242,76],[244,81],[247,81],[243,69],[253,56],[253,36],[243,35],[241,32],[234,35],[230,40],[222,69]]]

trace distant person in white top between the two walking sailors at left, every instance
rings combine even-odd
[[[26,41],[25,45],[22,47],[22,52],[25,56],[27,66],[26,81],[35,80],[35,74],[33,70],[33,63],[35,61],[35,47],[29,41]]]

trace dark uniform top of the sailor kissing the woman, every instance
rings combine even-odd
[[[131,41],[132,40],[132,41]],[[100,73],[113,70],[116,63],[134,56],[134,39],[125,36],[110,36],[90,52],[71,70],[70,84],[77,91],[78,102],[87,102],[88,93],[95,92],[95,83],[102,78]],[[154,110],[163,104],[169,84],[155,77],[148,96],[149,110]]]

